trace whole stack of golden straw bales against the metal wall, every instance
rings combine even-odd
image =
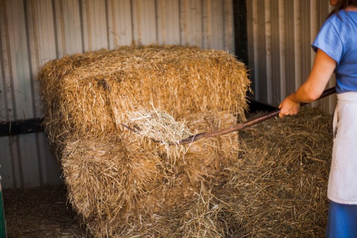
[[[173,166],[120,125],[149,102],[202,131],[245,119],[246,68],[225,52],[121,47],[51,61],[38,78],[69,200],[95,237],[152,231],[151,221],[181,209],[237,159],[236,133],[195,143]]]

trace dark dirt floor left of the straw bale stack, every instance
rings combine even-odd
[[[64,186],[2,190],[8,238],[84,237]]]

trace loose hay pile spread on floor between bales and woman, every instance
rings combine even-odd
[[[301,108],[239,134],[238,159],[211,184],[122,237],[325,237],[332,117]]]

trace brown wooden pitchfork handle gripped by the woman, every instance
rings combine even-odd
[[[329,89],[323,91],[323,93],[321,94],[321,96],[317,100],[319,100],[321,98],[324,98],[324,97],[327,97],[327,96],[330,96],[333,93],[336,93],[336,88],[335,87],[332,87],[332,88],[329,88]],[[317,100],[315,100],[315,101],[317,101]],[[308,104],[308,103],[305,103],[305,102],[304,103],[300,103],[300,106],[304,106],[306,104]],[[231,132],[239,131],[239,130],[242,130],[243,128],[245,128],[245,127],[250,127],[250,126],[256,125],[256,124],[258,124],[260,122],[266,121],[266,120],[268,120],[270,118],[276,117],[276,116],[279,115],[279,112],[280,112],[280,109],[276,109],[274,111],[266,113],[263,116],[254,118],[252,120],[249,120],[249,121],[246,121],[246,122],[243,122],[243,123],[238,123],[238,124],[236,124],[234,126],[231,126],[229,128],[226,128],[226,129],[223,129],[223,130],[220,130],[220,131],[212,131],[212,132],[206,133],[203,136],[208,138],[208,137],[212,137],[212,136],[221,136],[221,135],[225,135],[225,134],[228,134],[228,133],[231,133]]]

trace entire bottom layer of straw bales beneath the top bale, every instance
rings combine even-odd
[[[207,131],[236,121],[224,111],[196,113],[187,119]],[[230,151],[222,153],[220,148],[227,147]],[[175,164],[143,150],[138,141],[124,144],[119,136],[107,136],[69,141],[61,164],[72,207],[87,229],[101,237],[187,203],[202,181],[209,181],[237,155],[238,134],[197,141],[185,161],[178,159]]]

